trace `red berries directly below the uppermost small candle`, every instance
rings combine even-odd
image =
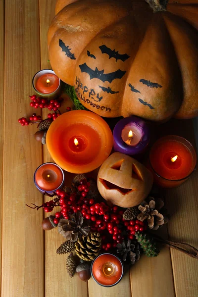
[[[46,98],[40,98],[37,97],[36,95],[30,96],[30,99],[32,102],[30,102],[30,106],[34,107],[34,108],[48,108],[49,110],[53,110],[56,111],[58,110],[58,108],[61,106],[61,101],[62,98],[59,99],[52,99],[52,100],[48,100]]]

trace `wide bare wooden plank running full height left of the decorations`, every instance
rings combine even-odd
[[[33,137],[36,125],[22,127],[28,117],[32,77],[40,68],[39,7],[34,0],[5,3],[4,165],[2,221],[3,297],[44,297],[42,195],[33,174],[42,163],[42,146]]]

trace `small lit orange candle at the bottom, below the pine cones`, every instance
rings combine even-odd
[[[122,263],[112,254],[101,254],[92,264],[92,275],[100,285],[113,286],[123,275]]]

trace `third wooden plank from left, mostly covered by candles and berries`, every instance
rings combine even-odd
[[[40,0],[40,36],[41,36],[41,68],[50,68],[48,62],[47,34],[50,21],[54,16],[55,0]],[[64,106],[69,100],[65,97]],[[69,102],[70,104],[70,102]],[[43,118],[47,117],[49,110],[43,110]],[[49,152],[44,146],[44,162],[53,161]],[[49,197],[45,197],[48,201]],[[48,216],[48,215],[47,215]],[[72,279],[68,276],[65,267],[66,255],[56,254],[56,249],[64,242],[64,238],[52,230],[45,233],[45,271],[46,271],[46,297],[66,297],[66,296],[88,296],[87,284],[82,282],[77,275]]]

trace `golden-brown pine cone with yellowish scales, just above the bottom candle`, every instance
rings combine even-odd
[[[75,243],[77,256],[84,261],[92,261],[98,256],[101,249],[101,237],[97,232],[90,233],[87,237],[78,239]]]

